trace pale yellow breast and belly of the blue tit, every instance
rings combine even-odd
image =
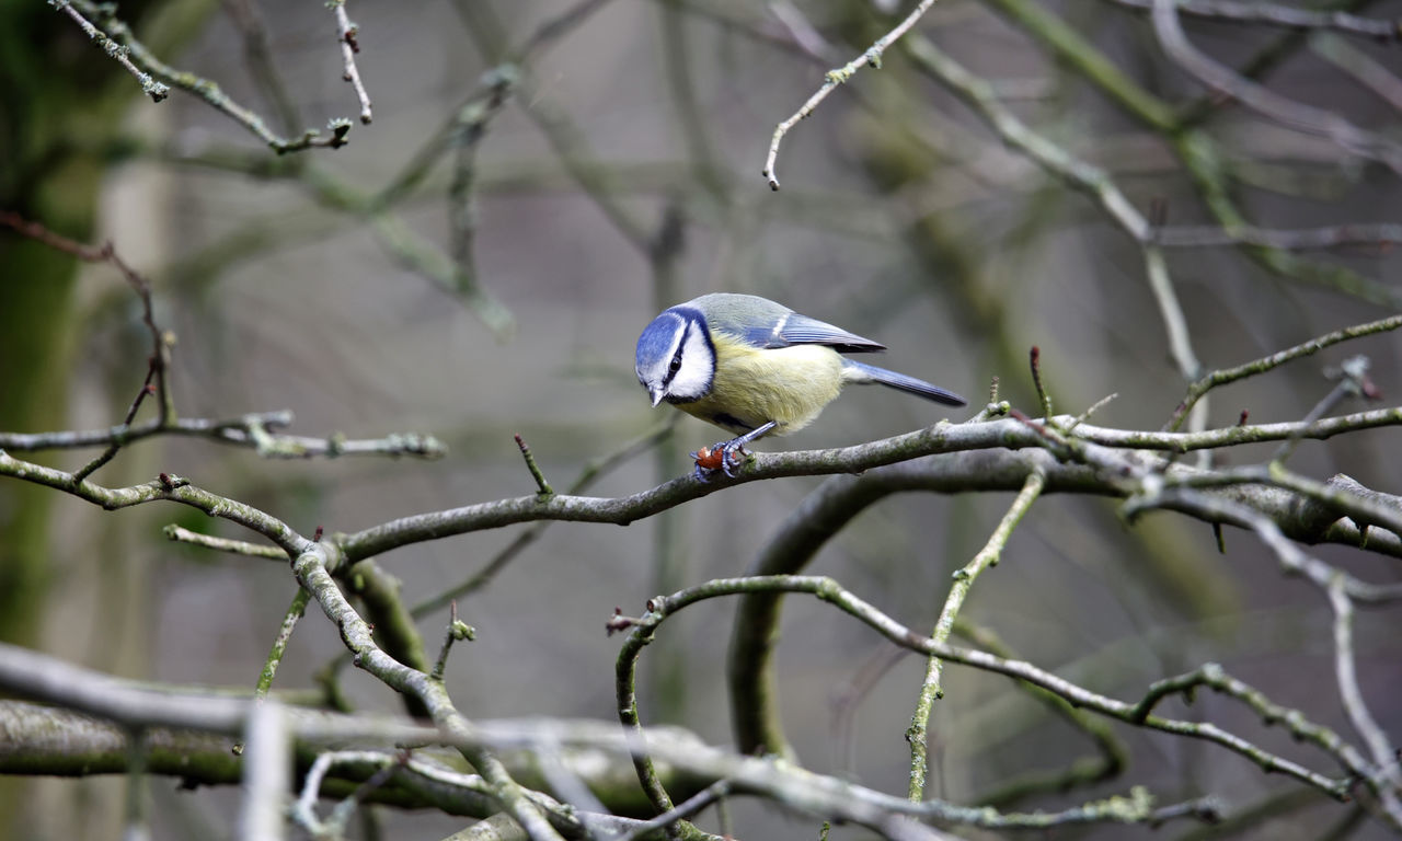
[[[843,357],[823,345],[757,349],[723,334],[711,394],[679,409],[732,432],[774,420],[770,435],[803,429],[843,390]]]

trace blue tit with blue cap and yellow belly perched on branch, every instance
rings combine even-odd
[[[736,435],[691,454],[707,479],[715,470],[733,477],[744,444],[812,423],[848,383],[966,405],[953,391],[843,356],[885,349],[765,297],[712,293],[653,318],[638,336],[635,370],[653,408],[669,402]]]

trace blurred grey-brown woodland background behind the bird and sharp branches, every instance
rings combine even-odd
[[[171,384],[184,416],[290,409],[293,433],[419,432],[449,446],[430,463],[268,461],[161,439],[123,450],[97,478],[118,486],[175,472],[307,534],[318,526],[355,531],[534,492],[512,440],[519,433],[555,488],[568,486],[590,461],[672,420],[673,412],[648,408],[632,373],[634,342],[659,310],[718,290],[764,294],[872,336],[890,348],[883,364],[972,398],[970,409],[949,413],[854,388],[809,430],[760,449],[843,446],[944,416],[962,420],[986,401],[993,378],[1001,397],[1039,413],[1026,364],[1033,345],[1057,411],[1080,413],[1117,394],[1095,423],[1158,429],[1185,376],[1143,248],[1087,192],[990,130],[904,48],[887,52],[879,70],[858,71],[787,136],[781,191],[760,175],[775,123],[910,4],[886,6],[897,4],[353,0],[356,62],[374,107],[363,126],[321,3],[122,4],[153,50],[217,81],[272,130],[297,136],[332,118],[355,122],[343,149],[276,156],[184,91],[150,102],[48,4],[4,4],[0,209],[79,240],[111,240],[151,279],[157,320],[177,336]],[[1398,3],[1349,7],[1374,20],[1402,11]],[[1272,91],[1396,137],[1395,42],[1186,15],[1185,27],[1196,49]],[[1154,224],[1200,238],[1224,227],[1241,235],[1244,224],[1353,226],[1329,248],[1232,245],[1220,235],[1165,248],[1206,369],[1396,310],[1391,245],[1399,237],[1377,226],[1398,223],[1398,174],[1213,95],[1165,56],[1143,8],[942,0],[917,36],[1028,128],[1099,168]],[[488,93],[509,60],[513,87],[496,111]],[[467,178],[474,200],[464,210]],[[79,271],[7,233],[0,261],[0,429],[119,422],[146,376],[136,297],[109,268]],[[1354,353],[1371,357],[1382,394],[1395,399],[1399,349],[1385,334],[1230,387],[1214,394],[1209,423],[1232,425],[1242,411],[1252,422],[1302,418],[1332,388],[1326,369]],[[690,470],[686,451],[718,437],[681,419],[670,439],[618,464],[590,493],[651,488]],[[1395,429],[1307,443],[1291,465],[1318,479],[1347,472],[1395,493],[1398,443]],[[1269,453],[1224,458],[1245,464]],[[90,456],[38,460],[73,468]],[[655,593],[742,573],[820,481],[726,489],[627,528],[551,526],[489,586],[460,600],[478,639],[449,669],[458,708],[475,719],[613,719],[618,639],[604,635],[604,621],[614,607],[637,614]],[[1009,499],[889,499],[810,570],[928,629],[951,572],[983,545]],[[115,674],[251,687],[294,592],[286,565],[167,542],[161,526],[172,521],[247,537],[172,506],[104,513],[0,484],[0,635]],[[415,604],[470,579],[515,535],[442,540],[380,563]],[[1176,516],[1126,527],[1113,500],[1047,498],[963,615],[1018,656],[1113,697],[1136,698],[1148,683],[1211,660],[1352,736],[1329,677],[1322,594],[1283,579],[1246,534],[1228,531],[1225,548],[1220,555],[1207,527]],[[1318,555],[1368,580],[1402,577],[1395,561],[1329,548]],[[691,608],[648,649],[645,723],[680,723],[729,743],[733,607]],[[439,639],[446,621],[446,610],[425,615],[426,639]],[[1363,690],[1396,734],[1395,615],[1361,613],[1357,636]],[[334,628],[308,614],[278,685],[311,685],[341,650]],[[904,792],[904,730],[923,662],[892,659],[873,634],[806,600],[791,600],[778,650],[781,704],[802,761]],[[343,681],[358,708],[400,709],[373,680],[346,670]],[[1165,709],[1335,772],[1218,697]],[[1217,793],[1232,810],[1266,809],[1234,837],[1385,835],[1354,807],[1234,754],[1116,732],[1130,750],[1122,775],[1015,806],[1064,807],[1143,784],[1165,802]],[[928,793],[960,803],[1094,754],[1084,734],[1007,680],[960,669],[946,673],[932,733]],[[151,781],[156,837],[230,837],[237,792],[175,785]],[[121,798],[118,778],[3,779],[0,834],[115,837]],[[813,838],[819,830],[764,803],[739,802],[733,812],[743,838]],[[387,821],[402,838],[436,838],[464,823],[429,813]],[[1047,837],[1148,833],[1101,827]],[[833,837],[865,835],[841,828]]]

